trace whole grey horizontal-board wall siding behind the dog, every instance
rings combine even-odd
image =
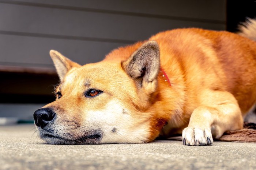
[[[0,0],[0,65],[53,68],[51,49],[98,62],[114,48],[185,27],[225,29],[225,2]]]

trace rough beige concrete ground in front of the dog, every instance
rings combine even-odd
[[[256,169],[255,143],[48,145],[33,133],[32,124],[0,126],[0,169]]]

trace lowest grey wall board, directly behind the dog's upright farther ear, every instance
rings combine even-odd
[[[0,65],[53,68],[49,50],[60,51],[79,64],[102,60],[120,43],[0,35]]]

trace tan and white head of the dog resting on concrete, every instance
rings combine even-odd
[[[151,109],[160,68],[156,41],[122,62],[80,66],[57,51],[50,56],[60,78],[56,101],[34,113],[47,143],[144,143],[157,137],[156,123],[163,121]]]

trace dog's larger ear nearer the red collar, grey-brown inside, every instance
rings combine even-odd
[[[160,69],[159,46],[156,41],[147,41],[131,57],[122,62],[122,67],[135,81],[137,88],[151,94],[157,87]]]

